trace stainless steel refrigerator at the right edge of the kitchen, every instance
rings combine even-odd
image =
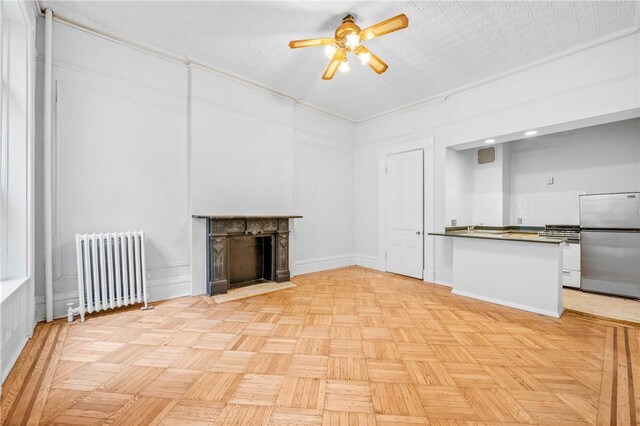
[[[582,290],[640,299],[640,192],[580,196]]]

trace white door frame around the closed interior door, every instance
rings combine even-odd
[[[422,150],[424,182],[423,194],[423,281],[435,280],[434,237],[428,235],[435,230],[434,217],[434,138],[433,136],[415,139],[409,142],[383,146],[378,149],[378,269],[386,271],[385,254],[387,250],[387,177],[385,167],[387,156],[408,151]]]

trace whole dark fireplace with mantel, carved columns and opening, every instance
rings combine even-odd
[[[207,293],[289,281],[289,221],[302,216],[194,216],[207,219]]]

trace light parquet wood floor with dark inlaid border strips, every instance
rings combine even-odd
[[[640,419],[640,329],[560,319],[352,267],[38,325],[4,425],[619,424]]]

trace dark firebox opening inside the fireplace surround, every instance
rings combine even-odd
[[[233,236],[229,238],[229,287],[273,281],[273,237]]]

